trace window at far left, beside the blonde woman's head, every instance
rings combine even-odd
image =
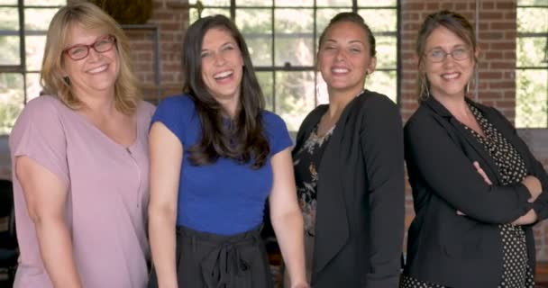
[[[9,134],[24,103],[40,94],[46,31],[65,0],[0,0],[0,135]]]

